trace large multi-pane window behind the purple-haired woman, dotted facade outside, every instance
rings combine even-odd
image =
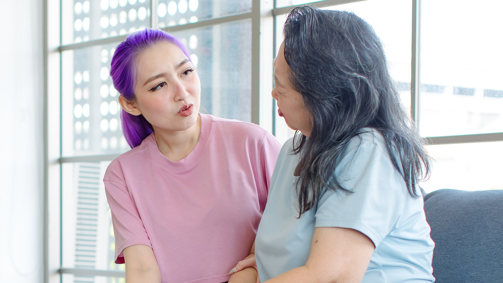
[[[261,60],[251,44],[261,40],[253,31],[261,20],[256,11],[264,8],[259,4],[48,1],[47,135],[54,158],[47,172],[48,281],[124,282],[124,265],[114,263],[113,227],[102,181],[110,161],[130,149],[121,131],[119,94],[109,76],[117,44],[145,27],[169,31],[188,47],[198,67],[201,112],[260,123],[271,119],[272,99],[260,104],[261,65],[253,63]],[[272,63],[267,68],[272,74]],[[272,89],[271,78],[261,87]]]

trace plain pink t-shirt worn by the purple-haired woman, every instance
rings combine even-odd
[[[172,162],[153,133],[104,177],[115,262],[132,245],[153,249],[162,282],[220,283],[249,254],[281,150],[258,125],[200,114],[194,150]]]

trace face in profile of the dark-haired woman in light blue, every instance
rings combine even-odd
[[[286,124],[300,130],[305,136],[312,131],[311,115],[307,110],[302,95],[290,84],[290,66],[285,60],[285,43],[281,43],[278,56],[274,60],[275,86],[272,96],[278,101],[278,114],[285,118]]]

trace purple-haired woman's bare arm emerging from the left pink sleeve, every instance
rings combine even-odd
[[[152,248],[134,245],[124,249],[126,283],[160,283],[160,270]]]

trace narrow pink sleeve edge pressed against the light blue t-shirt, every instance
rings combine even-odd
[[[266,133],[262,148],[260,151],[260,168],[261,168],[261,189],[263,191],[263,201],[261,201],[261,212],[264,211],[265,204],[267,201],[267,196],[269,194],[269,188],[271,186],[271,176],[273,175],[274,166],[278,159],[278,155],[281,151],[281,144],[278,139],[269,132]]]

